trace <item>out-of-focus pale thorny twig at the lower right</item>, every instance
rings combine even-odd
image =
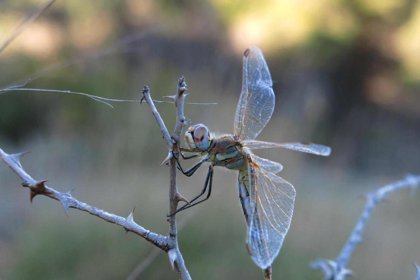
[[[362,241],[363,230],[365,230],[367,220],[369,220],[376,205],[383,201],[386,198],[386,195],[390,192],[396,191],[400,188],[411,188],[412,191],[415,191],[419,184],[420,175],[410,174],[402,180],[390,183],[381,188],[377,188],[375,191],[365,194],[365,208],[363,209],[363,212],[360,215],[359,220],[357,220],[349,239],[343,249],[341,249],[337,258],[335,260],[317,259],[310,263],[310,267],[313,270],[322,270],[325,274],[323,280],[344,280],[347,275],[354,276],[354,272],[347,268],[347,264],[352,256],[354,248]],[[415,267],[417,269],[416,280],[420,280],[420,269],[417,264],[415,264]]]

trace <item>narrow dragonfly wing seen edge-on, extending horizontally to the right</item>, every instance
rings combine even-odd
[[[265,142],[259,140],[244,140],[241,141],[241,144],[244,147],[249,149],[262,149],[262,148],[273,148],[273,147],[283,147],[287,149],[292,149],[300,152],[306,152],[311,154],[318,154],[321,156],[329,156],[331,154],[331,148],[328,146],[314,144],[311,142],[295,142],[295,143],[273,143]]]

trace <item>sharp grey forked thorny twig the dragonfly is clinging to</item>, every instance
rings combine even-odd
[[[157,120],[157,123],[163,133],[165,138],[166,144],[169,149],[169,154],[172,155],[172,151],[177,148],[176,141],[173,139],[178,139],[180,141],[180,134],[182,128],[185,126],[185,117],[184,117],[184,98],[186,94],[185,88],[186,84],[184,81],[184,77],[179,79],[178,82],[178,93],[174,96],[169,98],[173,99],[176,108],[177,108],[177,116],[176,116],[176,127],[173,133],[173,136],[169,136],[168,130],[163,123],[162,118],[160,118],[159,113],[157,112],[155,105],[153,104],[152,99],[150,98],[149,88],[144,86],[143,89],[143,97],[142,99],[146,99],[147,104],[152,109],[153,115]],[[86,94],[85,94],[86,95]],[[92,98],[92,97],[91,97]],[[95,98],[94,98],[95,99]],[[174,151],[177,154],[178,151]],[[73,196],[71,196],[71,191],[67,193],[60,193],[59,191],[54,190],[53,188],[45,186],[45,182],[47,180],[36,181],[34,180],[28,173],[25,172],[21,163],[19,162],[20,158],[27,154],[28,152],[22,152],[19,154],[7,154],[2,149],[0,149],[0,158],[24,181],[22,186],[28,187],[30,189],[30,199],[38,194],[42,194],[48,197],[51,197],[55,200],[60,201],[63,204],[64,210],[67,214],[68,208],[75,208],[80,209],[82,211],[86,211],[92,215],[102,218],[108,222],[113,222],[117,225],[123,226],[127,231],[134,232],[139,236],[142,236],[147,241],[151,242],[152,244],[156,245],[160,249],[163,249],[168,253],[169,260],[171,262],[172,267],[175,266],[181,280],[191,280],[191,277],[186,270],[184,265],[184,259],[182,258],[181,252],[178,249],[178,240],[177,240],[177,230],[176,230],[176,215],[173,215],[169,218],[170,226],[169,226],[169,236],[162,236],[157,233],[152,233],[150,230],[146,230],[142,226],[136,224],[133,220],[133,211],[130,215],[126,218],[120,217],[111,213],[108,213],[102,209],[98,209],[96,207],[92,207],[86,203],[83,203]],[[169,204],[170,204],[170,212],[173,213],[176,211],[178,207],[178,201],[186,201],[184,197],[182,197],[176,188],[176,161],[174,158],[168,158],[170,161],[170,184],[169,184]]]

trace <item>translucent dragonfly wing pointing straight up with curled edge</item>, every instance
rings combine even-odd
[[[262,52],[251,47],[244,53],[242,91],[235,115],[235,135],[239,141],[255,139],[274,110],[273,81]]]

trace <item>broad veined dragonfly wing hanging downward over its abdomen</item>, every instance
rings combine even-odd
[[[252,162],[248,170],[239,172],[239,197],[247,220],[247,249],[263,270],[280,251],[290,227],[295,196],[290,183]]]

